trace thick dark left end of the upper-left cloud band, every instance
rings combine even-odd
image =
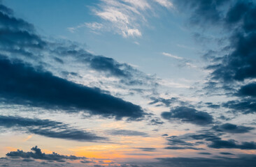
[[[47,43],[34,33],[34,26],[13,16],[12,10],[0,8],[0,49],[10,51],[10,56],[33,57],[31,49],[43,49]],[[40,58],[40,57],[38,57]]]

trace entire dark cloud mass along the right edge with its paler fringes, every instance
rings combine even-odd
[[[255,97],[255,83],[252,82],[256,78],[255,1],[183,0],[173,3],[180,10],[184,10],[184,6],[189,9],[192,25],[203,29],[214,26],[225,32],[225,36],[217,37],[219,49],[210,49],[207,54],[211,61],[211,65],[206,67],[206,70],[210,70],[207,87],[212,90],[221,88],[226,95],[240,98],[238,101],[226,102],[223,106],[236,112],[254,113],[255,100],[249,97]],[[211,87],[213,83],[214,88]]]

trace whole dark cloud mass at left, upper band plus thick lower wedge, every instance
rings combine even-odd
[[[78,50],[76,45],[59,47],[61,43],[43,40],[32,24],[17,19],[3,5],[0,8],[0,25],[0,49],[6,51],[0,55],[0,80],[3,81],[0,83],[0,95],[4,102],[47,109],[83,110],[92,115],[116,119],[125,117],[135,120],[145,115],[140,106],[103,93],[99,88],[75,84],[42,70],[50,62],[44,62],[44,55],[41,54],[48,52],[53,55],[50,57],[52,60],[62,64],[65,63],[62,60],[64,56],[69,55],[80,61],[83,57],[94,70],[121,76],[122,79],[131,78],[134,72],[131,66],[118,63],[113,58]],[[24,63],[27,60],[37,63]]]

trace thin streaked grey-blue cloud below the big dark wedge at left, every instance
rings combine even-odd
[[[27,133],[37,134],[50,138],[62,138],[74,141],[106,140],[90,132],[74,129],[62,122],[39,120],[14,116],[0,116],[0,127],[24,130]]]

